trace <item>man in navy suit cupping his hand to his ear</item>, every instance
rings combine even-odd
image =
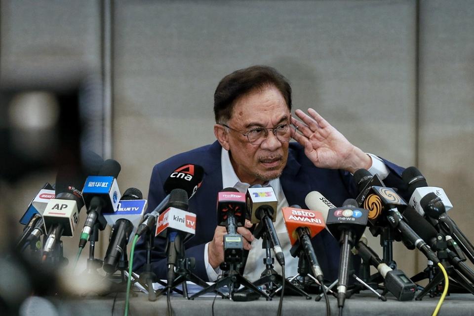
[[[197,215],[196,235],[186,244],[186,256],[195,257],[198,277],[215,281],[224,260],[223,236],[217,226],[217,192],[236,187],[245,192],[250,185],[270,185],[278,198],[276,232],[286,258],[286,275],[297,272],[297,258],[289,255],[289,238],[281,208],[299,205],[319,191],[336,206],[357,194],[351,173],[364,168],[385,178],[388,186],[402,185],[402,169],[379,157],[366,154],[351,144],[314,109],[308,114],[296,110],[291,116],[291,87],[284,76],[266,66],[252,66],[225,76],[214,94],[217,141],[171,157],[153,169],[148,195],[149,211],[165,197],[164,180],[183,164],[204,169],[201,186],[189,201]],[[299,131],[299,132],[297,132]],[[291,139],[297,142],[290,142]],[[246,222],[237,232],[249,251],[244,276],[256,280],[265,269],[261,240],[255,240]],[[326,231],[312,240],[325,279],[337,279],[338,242]],[[159,279],[166,276],[166,240],[157,237],[152,252],[153,268]],[[143,242],[135,250],[134,270],[145,263]]]

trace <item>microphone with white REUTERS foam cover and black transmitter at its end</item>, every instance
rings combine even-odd
[[[328,211],[330,209],[336,208],[330,201],[328,201],[317,191],[308,193],[305,198],[305,203],[309,208],[313,210],[319,210],[325,217],[327,217]],[[362,234],[362,237],[356,244],[356,250],[359,256],[377,269],[377,271],[385,280],[385,287],[399,301],[412,300],[415,295],[416,285],[410,279],[408,279],[403,271],[393,270],[390,268],[379,258],[372,248],[366,245],[366,243],[367,239],[364,238]]]

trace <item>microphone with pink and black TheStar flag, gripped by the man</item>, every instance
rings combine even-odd
[[[245,194],[236,188],[225,188],[217,193],[217,225],[225,226],[224,261],[240,263],[243,255],[243,240],[237,234],[237,227],[245,225],[247,204]]]

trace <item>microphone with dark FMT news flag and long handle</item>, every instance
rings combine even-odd
[[[326,226],[339,240],[341,256],[339,260],[339,283],[337,286],[338,307],[344,307],[351,264],[351,248],[362,236],[367,226],[368,211],[357,207],[354,199],[347,199],[341,208],[330,209]]]

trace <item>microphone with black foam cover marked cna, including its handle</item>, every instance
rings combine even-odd
[[[170,192],[173,189],[185,190],[191,198],[201,186],[204,169],[198,165],[184,164],[174,170],[164,181],[163,189],[167,194],[166,197],[158,204],[155,210],[145,214],[142,222],[138,226],[137,235],[141,236],[146,232],[150,232],[157,222],[158,215],[164,211],[168,205]]]

